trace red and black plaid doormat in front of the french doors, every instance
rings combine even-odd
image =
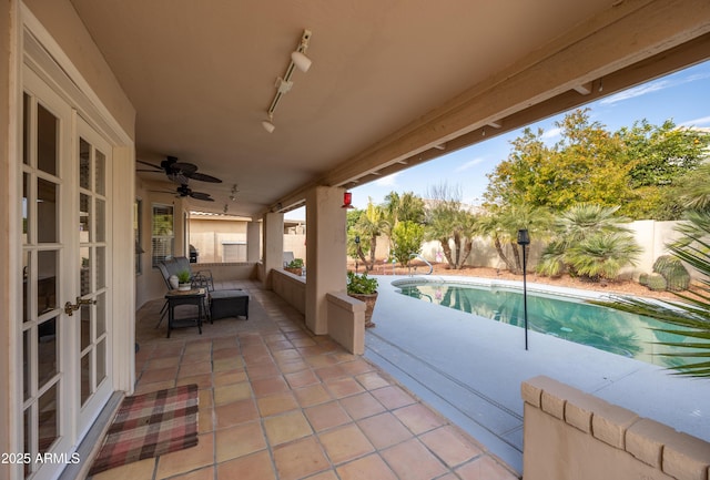
[[[196,445],[196,385],[126,397],[89,474]]]

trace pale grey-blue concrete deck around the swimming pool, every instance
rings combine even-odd
[[[710,380],[525,330],[396,293],[395,279],[376,276],[377,325],[366,333],[365,357],[523,472],[520,384],[546,375],[710,441]],[[426,276],[465,283],[466,277]],[[520,285],[477,278],[478,284]],[[528,283],[528,293],[574,294]],[[579,290],[582,295],[590,294]]]

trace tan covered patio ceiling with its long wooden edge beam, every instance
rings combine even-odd
[[[216,200],[193,207],[247,217],[710,57],[707,0],[71,2],[135,106],[136,157],[196,164],[223,183],[191,181]],[[313,64],[267,133],[304,29]]]

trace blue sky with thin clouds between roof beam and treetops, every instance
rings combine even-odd
[[[635,121],[642,119],[653,125],[660,125],[670,119],[677,125],[710,127],[710,62],[616,93],[586,106],[590,109],[590,120],[606,125],[610,131],[631,126]],[[562,118],[564,114],[551,116],[528,126],[542,129],[547,141],[555,143],[559,140],[555,122]],[[364,208],[368,197],[376,204],[383,203],[385,195],[392,191],[414,192],[426,198],[432,187],[443,183],[458,188],[464,203],[479,203],[488,184],[486,174],[507,159],[510,141],[519,136],[520,131],[521,129],[508,132],[353,188],[353,205]],[[298,208],[287,213],[286,217],[302,219],[305,212]]]

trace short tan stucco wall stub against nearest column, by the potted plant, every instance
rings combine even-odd
[[[365,303],[346,293],[327,294],[328,336],[351,354],[365,353]]]

